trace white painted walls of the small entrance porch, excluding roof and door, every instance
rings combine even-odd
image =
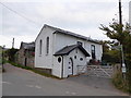
[[[74,59],[74,56],[76,56],[76,59]],[[58,58],[61,58],[61,62],[58,62]],[[62,72],[62,57],[63,57],[63,73]],[[72,58],[73,59],[73,75],[78,74],[78,65],[86,65],[86,58],[83,54],[83,52],[81,50],[78,49],[78,53],[76,53],[76,49],[74,49],[73,51],[71,51],[69,53],[69,56],[57,56],[55,57],[53,60],[53,68],[52,68],[52,75],[56,75],[58,77],[61,77],[61,74],[63,74],[63,77],[68,77],[69,75],[69,59]],[[83,58],[83,61],[80,60],[80,58]]]

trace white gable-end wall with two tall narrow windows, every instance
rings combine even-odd
[[[52,69],[52,45],[53,45],[53,33],[55,30],[44,27],[36,38],[35,41],[35,68]],[[46,38],[49,37],[49,54],[46,53]],[[39,54],[39,41],[43,40],[41,54]]]

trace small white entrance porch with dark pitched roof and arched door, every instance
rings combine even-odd
[[[90,57],[90,53],[81,45],[71,45],[63,47],[53,56],[58,59],[56,65],[61,66],[61,77],[68,77],[76,75],[79,66],[87,64],[86,57]]]

